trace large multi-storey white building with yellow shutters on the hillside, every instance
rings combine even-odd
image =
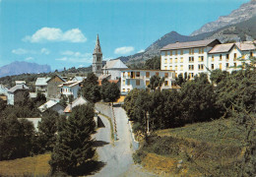
[[[194,78],[209,70],[233,71],[242,63],[238,58],[256,56],[255,42],[222,44],[218,39],[171,43],[160,49],[160,69],[175,70],[177,77],[185,73]]]

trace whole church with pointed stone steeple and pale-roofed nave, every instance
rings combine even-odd
[[[119,80],[121,70],[128,69],[120,59],[109,60],[103,64],[98,34],[96,35],[96,47],[93,56],[93,73],[98,77],[98,80]]]

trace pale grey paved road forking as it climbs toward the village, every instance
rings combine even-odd
[[[99,116],[104,127],[99,128],[95,135],[98,147],[98,160],[105,165],[94,176],[154,176],[135,165],[132,159],[131,136],[128,119],[121,107],[114,107],[117,126],[117,141],[111,144],[110,124],[108,120]]]

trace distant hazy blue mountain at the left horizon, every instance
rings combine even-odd
[[[48,73],[49,65],[38,65],[30,62],[13,62],[0,68],[0,78],[5,76],[20,75],[23,73]]]

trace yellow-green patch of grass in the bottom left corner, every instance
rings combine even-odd
[[[47,176],[50,154],[0,161],[0,176]]]

